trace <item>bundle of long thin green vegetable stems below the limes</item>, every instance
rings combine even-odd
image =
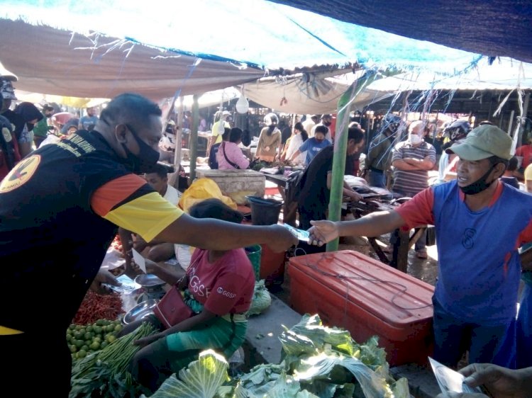
[[[70,398],[138,397],[144,391],[128,371],[131,359],[140,349],[133,341],[150,336],[155,328],[144,322],[135,331],[116,339],[99,352],[77,360],[72,366]]]

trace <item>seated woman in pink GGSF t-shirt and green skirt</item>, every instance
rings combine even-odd
[[[196,203],[189,214],[236,223],[243,218],[240,212],[214,198]],[[131,373],[152,391],[172,373],[196,360],[199,352],[211,348],[229,358],[245,339],[245,312],[253,297],[255,273],[244,249],[196,249],[187,274],[179,283],[181,288],[186,286],[194,300],[203,305],[201,312],[135,341],[143,348],[132,360]]]

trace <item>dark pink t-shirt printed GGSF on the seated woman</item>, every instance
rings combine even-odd
[[[196,249],[187,269],[189,291],[216,315],[248,311],[255,288],[255,273],[244,249],[227,251],[209,263],[209,251]]]

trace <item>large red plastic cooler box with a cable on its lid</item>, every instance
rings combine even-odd
[[[379,336],[391,366],[427,363],[433,286],[350,250],[292,257],[288,274],[290,305],[300,314],[317,313],[358,343]]]

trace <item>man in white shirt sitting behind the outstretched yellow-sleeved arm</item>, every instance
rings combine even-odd
[[[152,173],[146,173],[145,179],[152,186],[155,191],[168,200],[172,205],[177,206],[181,194],[173,186],[168,185],[168,171],[165,166],[157,164]],[[151,261],[166,261],[174,256],[174,244],[161,241],[144,241],[140,236],[134,235],[132,242],[132,234],[127,229],[118,229],[120,239],[122,242],[123,255],[126,262],[131,262],[131,243],[135,250],[143,252],[146,258]]]

